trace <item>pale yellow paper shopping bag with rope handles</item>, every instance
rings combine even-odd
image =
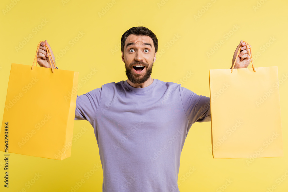
[[[214,159],[283,157],[277,66],[249,56],[252,68],[209,70]]]

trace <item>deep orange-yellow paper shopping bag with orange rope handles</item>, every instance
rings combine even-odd
[[[46,50],[52,59],[47,45]],[[34,60],[37,66],[36,56]],[[51,60],[50,65],[51,69],[33,68],[34,62],[32,67],[12,63],[0,151],[57,160],[70,157],[78,72],[53,69]]]

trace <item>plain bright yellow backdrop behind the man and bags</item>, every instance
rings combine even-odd
[[[251,44],[252,54],[258,53],[257,59],[254,57],[256,67],[278,66],[279,79],[287,74],[287,1],[113,2],[1,1],[0,117],[3,117],[11,63],[32,65],[39,41],[48,41],[60,58],[56,61],[60,69],[79,71],[79,83],[83,87],[78,95],[81,95],[105,83],[126,79],[119,43],[122,34],[133,26],[148,27],[158,38],[158,58],[152,78],[172,82],[182,80],[183,87],[198,95],[209,96],[209,69],[229,69],[240,40]],[[107,3],[113,6],[109,7]],[[103,11],[105,7],[108,9],[106,13]],[[100,17],[98,12],[102,11],[105,14]],[[199,18],[195,17],[197,14]],[[32,38],[27,42],[25,38],[29,35]],[[75,38],[77,35],[81,38]],[[71,39],[78,41],[73,44]],[[270,41],[272,43],[269,43],[270,39],[274,39]],[[16,50],[23,41],[26,43],[23,48]],[[215,47],[220,41],[224,43]],[[66,52],[63,51],[65,47],[69,48]],[[207,52],[213,47],[217,50],[208,57]],[[159,54],[161,50],[162,55]],[[91,68],[98,71],[89,81],[84,81],[82,78],[90,74]],[[184,78],[187,71],[193,73],[190,78]],[[213,159],[211,123],[195,123],[181,154],[180,191],[265,192],[269,188],[270,191],[287,191],[288,178],[284,175],[288,170],[287,86],[288,80],[280,85],[284,157],[257,158],[249,166],[247,159]],[[82,127],[88,130],[81,133]],[[71,187],[77,186],[82,179],[85,183],[79,189],[76,187],[77,192],[102,191],[103,172],[93,128],[88,121],[75,121],[73,135],[77,134],[81,136],[73,142],[71,157],[63,161],[10,154],[9,189],[3,187],[4,153],[0,152],[0,191],[73,191]],[[3,143],[0,145],[4,147]],[[86,177],[94,164],[100,167]],[[193,167],[196,170],[190,174]],[[39,179],[29,185],[38,173],[41,175]],[[276,182],[281,176],[282,182]],[[229,179],[232,183],[226,185]],[[272,189],[273,185],[275,189]]]

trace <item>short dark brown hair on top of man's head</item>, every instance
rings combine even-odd
[[[154,43],[155,53],[158,51],[158,39],[156,35],[150,29],[140,26],[140,27],[132,27],[129,30],[125,31],[125,33],[123,33],[121,37],[121,51],[122,52],[124,50],[125,41],[127,37],[131,34],[138,35],[138,36],[145,35],[145,36],[151,37]]]

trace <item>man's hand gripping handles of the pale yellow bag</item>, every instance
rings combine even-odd
[[[239,56],[236,58],[238,49],[241,45],[243,47],[241,47]],[[234,65],[234,69],[247,68],[248,65],[250,64],[251,60],[250,60],[250,56],[248,53],[248,49],[249,49],[250,53],[251,53],[251,49],[250,49],[249,45],[247,45],[247,46],[246,46],[245,42],[243,42],[242,40],[240,41],[239,45],[237,46],[237,48],[234,52],[234,55],[233,55],[233,59],[232,59],[232,66],[233,66],[234,60],[236,58],[236,63]],[[231,66],[231,68],[232,68],[232,66]]]

